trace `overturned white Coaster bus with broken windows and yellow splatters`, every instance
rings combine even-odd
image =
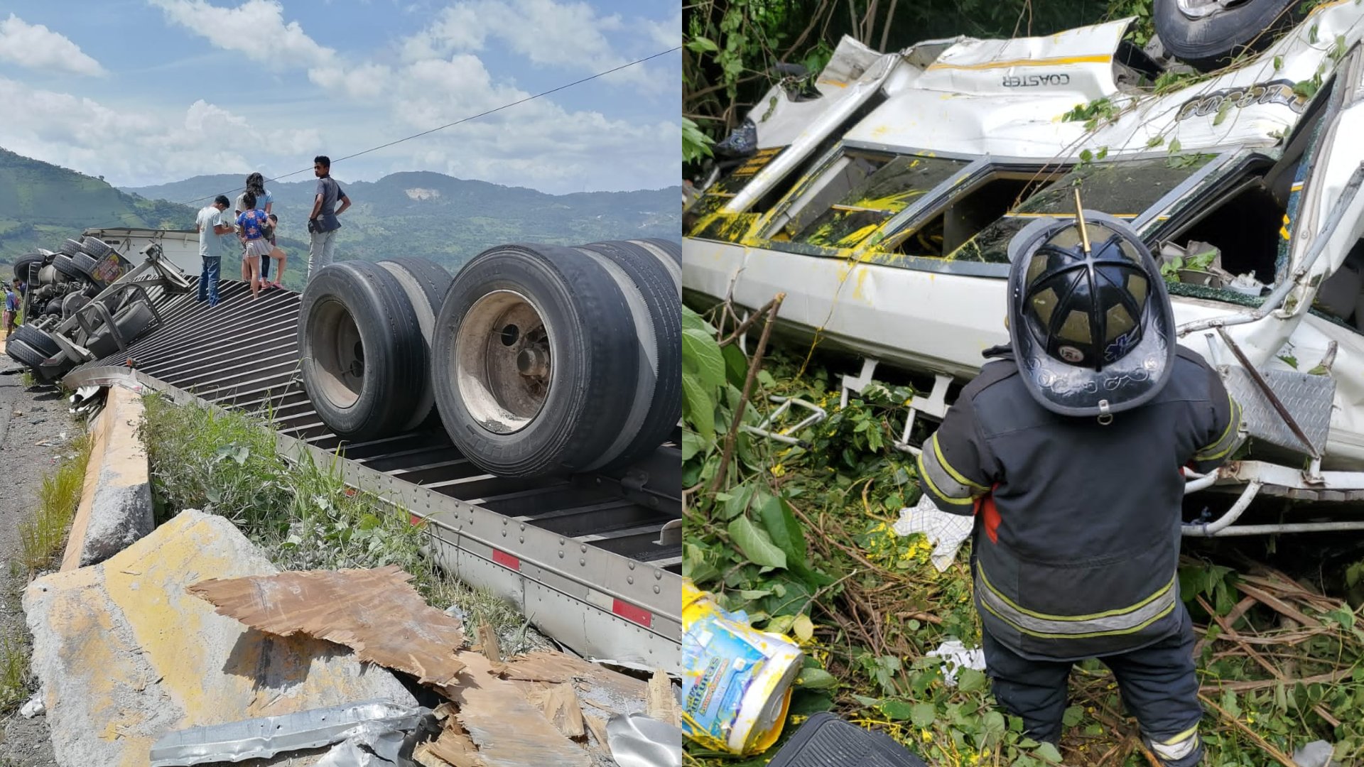
[[[892,53],[846,38],[813,89],[758,102],[728,142],[747,151],[701,184],[683,296],[742,314],[787,293],[779,333],[862,359],[846,392],[907,373],[926,392],[898,444],[913,453],[1008,343],[1009,239],[1073,217],[1078,187],[1162,254],[1180,344],[1245,407],[1249,452],[1188,483],[1225,513],[1185,534],[1361,530],[1364,7],[1304,5],[1206,75],[1163,74],[1129,22]],[[1233,524],[1264,497],[1330,519]]]

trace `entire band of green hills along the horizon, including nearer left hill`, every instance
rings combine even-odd
[[[235,201],[243,182],[241,175],[213,175],[119,190],[101,179],[0,149],[0,262],[12,262],[37,247],[56,250],[63,239],[76,237],[90,227],[192,229],[199,207],[218,194]],[[551,195],[431,172],[342,182],[341,187],[352,205],[341,216],[338,259],[421,257],[454,272],[502,243],[675,240],[682,228],[679,187]],[[289,272],[301,277],[295,270],[307,261],[306,218],[316,180],[277,182],[266,188],[274,195]]]

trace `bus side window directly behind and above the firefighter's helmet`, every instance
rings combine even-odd
[[[1213,157],[1215,156],[1154,157],[1075,168],[1023,201],[1013,212],[981,229],[948,258],[1008,263],[1009,240],[1033,218],[1075,214],[1075,198],[1071,195],[1075,186],[1080,187],[1086,209],[1131,221],[1207,165]]]

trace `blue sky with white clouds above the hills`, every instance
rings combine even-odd
[[[677,0],[0,1],[0,146],[116,186],[304,169],[668,50]],[[548,192],[672,186],[681,56],[337,161]],[[300,173],[289,180],[311,177]]]

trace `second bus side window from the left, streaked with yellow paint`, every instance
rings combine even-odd
[[[816,199],[805,213],[792,216],[791,227],[799,231],[791,240],[822,247],[855,246],[966,165],[964,160],[850,151],[846,162],[827,172],[833,176],[817,192],[829,202],[821,205]],[[802,225],[803,221],[809,224]]]

